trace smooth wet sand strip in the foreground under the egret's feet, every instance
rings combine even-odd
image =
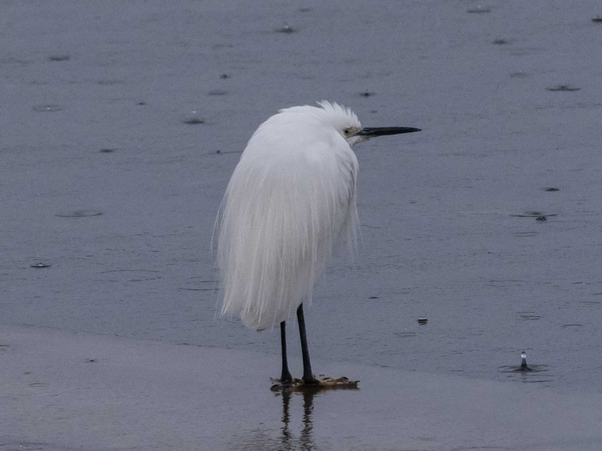
[[[602,447],[600,394],[323,361],[360,388],[283,394],[255,352],[34,328],[0,345],[2,451]]]

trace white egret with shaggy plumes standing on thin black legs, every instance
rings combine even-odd
[[[291,381],[285,322],[297,313],[303,382],[315,379],[303,302],[311,299],[333,246],[355,241],[358,159],[351,146],[372,137],[418,132],[364,128],[349,108],[323,100],[281,109],[253,133],[222,201],[217,245],[222,314],[261,331],[280,324],[282,383]]]

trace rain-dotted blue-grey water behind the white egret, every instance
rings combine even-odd
[[[355,149],[312,356],[602,390],[599,2],[1,7],[1,324],[278,353],[215,316],[214,219],[258,124],[328,99],[424,130]]]

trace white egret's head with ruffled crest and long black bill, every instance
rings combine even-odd
[[[318,102],[324,110],[326,120],[340,133],[349,146],[356,143],[368,141],[370,138],[384,135],[398,135],[399,133],[420,132],[421,129],[414,127],[362,127],[358,116],[349,108],[330,103],[327,100]]]

